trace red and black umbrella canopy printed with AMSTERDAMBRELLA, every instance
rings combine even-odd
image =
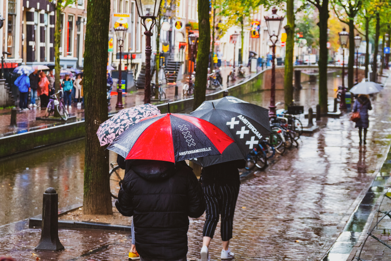
[[[220,155],[234,142],[212,123],[186,114],[164,114],[130,126],[108,147],[127,160],[178,162]]]

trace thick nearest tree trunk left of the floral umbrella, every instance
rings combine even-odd
[[[109,151],[101,147],[96,131],[108,119],[106,67],[110,0],[87,1],[84,63],[86,156],[83,214],[113,214],[109,184]]]

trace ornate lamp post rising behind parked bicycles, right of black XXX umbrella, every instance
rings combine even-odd
[[[274,60],[276,59],[276,43],[278,41],[278,37],[280,35],[282,20],[284,17],[281,17],[277,14],[277,8],[273,7],[272,15],[265,16],[265,21],[267,25],[267,32],[269,33],[270,41],[272,42],[272,83],[270,89],[270,111],[269,117],[276,116],[276,65]]]

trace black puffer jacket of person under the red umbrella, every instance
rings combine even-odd
[[[185,162],[135,160],[115,206],[121,214],[133,215],[140,256],[162,260],[186,257],[188,216],[205,211],[202,190]]]

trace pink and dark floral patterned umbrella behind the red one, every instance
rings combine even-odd
[[[99,126],[96,135],[101,146],[110,144],[130,126],[153,115],[160,115],[160,111],[149,103],[119,111]]]

